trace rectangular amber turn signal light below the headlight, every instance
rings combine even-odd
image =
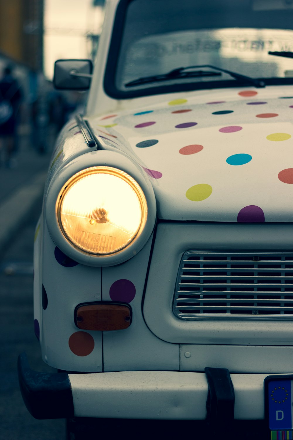
[[[80,330],[112,331],[127,329],[131,323],[128,304],[87,303],[75,309],[75,325]]]

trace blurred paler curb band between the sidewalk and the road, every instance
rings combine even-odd
[[[43,194],[47,170],[38,173],[27,185],[14,191],[0,205],[0,252],[27,219]]]

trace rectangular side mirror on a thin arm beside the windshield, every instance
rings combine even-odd
[[[58,90],[88,90],[92,71],[90,59],[58,59],[54,66],[54,87]]]

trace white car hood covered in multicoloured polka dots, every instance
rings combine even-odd
[[[293,221],[293,88],[190,92],[90,119],[148,174],[166,220]]]

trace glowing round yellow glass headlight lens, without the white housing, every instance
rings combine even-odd
[[[78,249],[107,255],[137,238],[147,219],[145,194],[126,172],[107,166],[85,169],[60,193],[57,216],[61,231]]]

